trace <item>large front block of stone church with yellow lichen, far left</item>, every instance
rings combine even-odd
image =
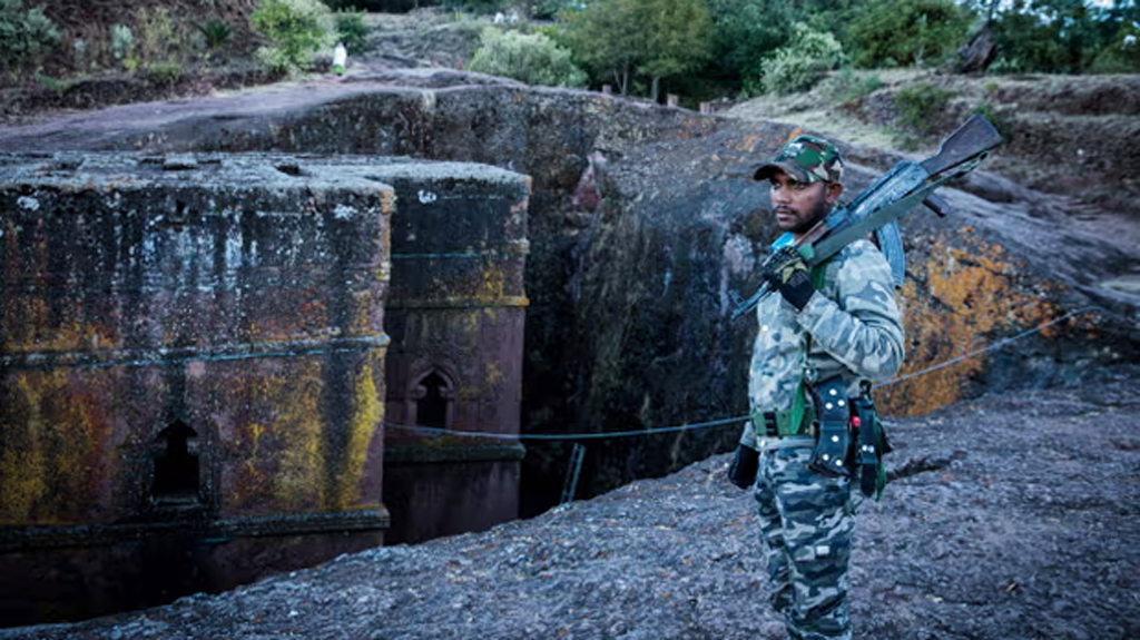
[[[0,165],[0,620],[383,541],[390,186],[262,156]]]

